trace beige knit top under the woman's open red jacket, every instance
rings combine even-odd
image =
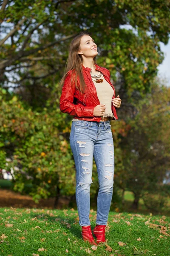
[[[102,78],[102,77],[101,77]],[[105,104],[105,113],[103,115],[103,117],[105,116],[111,116],[113,117],[113,113],[112,113],[112,98],[113,98],[113,93],[114,90],[111,87],[111,85],[105,80],[104,76],[103,76],[103,81],[102,83],[96,83],[96,81],[92,80],[94,82],[94,85],[96,87],[96,91],[97,91],[97,96],[99,99],[100,104]],[[74,118],[72,121],[76,121],[77,119]]]

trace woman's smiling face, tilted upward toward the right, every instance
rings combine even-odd
[[[82,56],[95,57],[97,52],[97,45],[89,35],[83,35],[80,41],[80,50],[78,52]]]

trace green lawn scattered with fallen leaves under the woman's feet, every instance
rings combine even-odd
[[[91,210],[90,220],[93,230],[96,211]],[[150,227],[146,221],[163,227]],[[93,250],[91,244],[82,240],[78,212],[74,209],[0,208],[0,256],[85,256],[89,255],[88,250],[91,256],[170,256],[170,236],[159,233],[161,229],[170,234],[170,217],[110,212],[106,239],[113,250],[105,250],[105,244]],[[137,240],[139,237],[141,241]],[[126,245],[119,246],[119,241]],[[38,251],[39,248],[44,251]]]

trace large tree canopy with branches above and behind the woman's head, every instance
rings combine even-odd
[[[129,100],[133,93],[144,96],[164,58],[159,42],[168,43],[169,8],[167,0],[11,2],[1,12],[1,86],[11,85],[10,76],[17,93],[40,111],[63,75],[70,40],[82,30],[93,36],[97,62]]]

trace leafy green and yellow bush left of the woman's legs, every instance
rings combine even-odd
[[[17,96],[1,101],[1,148],[12,157],[6,169],[20,168],[14,172],[14,190],[22,192],[32,183],[34,200],[54,196],[57,187],[63,195],[74,194],[74,161],[64,137],[68,131],[59,109],[33,112]]]

